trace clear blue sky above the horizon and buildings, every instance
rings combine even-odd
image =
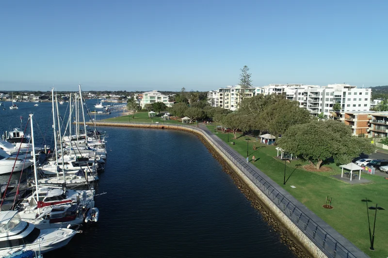
[[[388,1],[1,1],[0,90],[388,85]]]

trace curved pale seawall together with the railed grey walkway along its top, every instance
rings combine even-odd
[[[92,122],[87,122],[93,125]],[[225,145],[207,129],[189,125],[97,122],[97,126],[137,127],[154,129],[173,129],[195,133],[202,137],[231,167],[249,189],[275,215],[277,220],[301,243],[315,258],[368,257],[349,240],[331,228],[321,218],[309,211],[302,203],[268,178],[237,152]],[[228,150],[225,150],[228,148]],[[226,152],[227,151],[227,152]]]

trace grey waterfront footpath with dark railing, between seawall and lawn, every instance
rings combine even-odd
[[[277,208],[279,208],[279,210],[281,210],[281,212],[283,212],[284,215],[286,215],[292,223],[299,228],[309,240],[311,240],[312,243],[321,249],[325,256],[332,258],[369,257],[348,239],[343,237],[338,231],[324,222],[314,212],[311,212],[304,204],[260,171],[259,168],[255,167],[251,163],[247,163],[246,157],[244,158],[240,153],[232,149],[231,146],[213,134],[213,132],[211,132],[205,124],[200,124],[199,128],[202,129],[208,137],[212,138],[217,145],[220,145],[220,147],[224,149],[235,162],[238,163],[237,167],[242,168],[241,170],[244,174],[249,173],[249,179],[255,184],[255,186],[266,197],[271,199],[273,204],[277,206]],[[290,229],[287,225],[285,226]],[[294,230],[291,229],[291,231]],[[295,235],[295,231],[291,233],[297,239],[301,240],[301,236],[298,236],[297,233]],[[311,250],[310,248],[307,249]],[[314,255],[314,253],[312,254]]]

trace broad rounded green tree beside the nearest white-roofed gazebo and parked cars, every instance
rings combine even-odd
[[[320,169],[323,162],[346,164],[361,153],[374,152],[374,145],[368,138],[352,136],[352,129],[340,121],[311,121],[291,126],[277,140],[280,148],[308,160]]]

